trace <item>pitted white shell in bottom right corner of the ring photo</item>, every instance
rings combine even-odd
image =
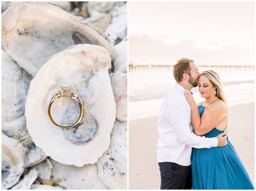
[[[127,122],[115,121],[109,149],[96,164],[109,189],[127,189]]]

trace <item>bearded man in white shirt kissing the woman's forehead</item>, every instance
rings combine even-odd
[[[176,83],[163,101],[157,124],[160,136],[157,162],[160,167],[161,189],[191,189],[192,147],[225,146],[227,135],[221,133],[217,137],[206,138],[193,132],[190,105],[183,91],[185,88],[191,90],[198,86],[200,74],[194,61],[186,58],[177,60],[173,66],[173,74]]]

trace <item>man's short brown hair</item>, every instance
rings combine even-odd
[[[194,62],[194,60],[182,58],[177,60],[175,65],[173,65],[173,76],[177,82],[182,81],[184,73],[189,74],[191,70],[190,64],[189,64],[190,62]]]

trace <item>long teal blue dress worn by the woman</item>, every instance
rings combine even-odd
[[[200,116],[204,106],[198,107]],[[225,129],[224,129],[225,130]],[[224,132],[213,128],[205,137],[216,137]],[[210,149],[192,149],[193,189],[254,189],[241,159],[227,138],[227,145]]]

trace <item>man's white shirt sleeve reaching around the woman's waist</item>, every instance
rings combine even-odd
[[[216,137],[206,138],[191,132],[187,116],[187,104],[183,100],[178,99],[170,105],[167,117],[181,143],[198,149],[218,146]]]

